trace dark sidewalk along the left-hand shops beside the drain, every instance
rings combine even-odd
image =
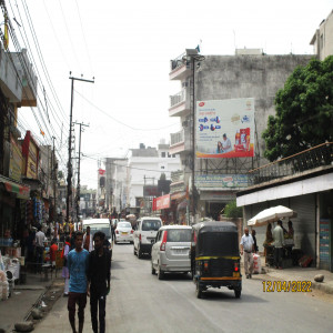
[[[62,284],[63,279],[60,276],[61,274],[58,273],[58,278],[53,274],[52,279],[42,281],[40,274],[28,273],[27,283],[16,285],[11,297],[0,302],[0,332],[12,332],[16,323],[27,320],[31,309],[40,303],[41,297],[50,290],[51,285],[58,280]],[[62,289],[60,292],[62,294]]]

